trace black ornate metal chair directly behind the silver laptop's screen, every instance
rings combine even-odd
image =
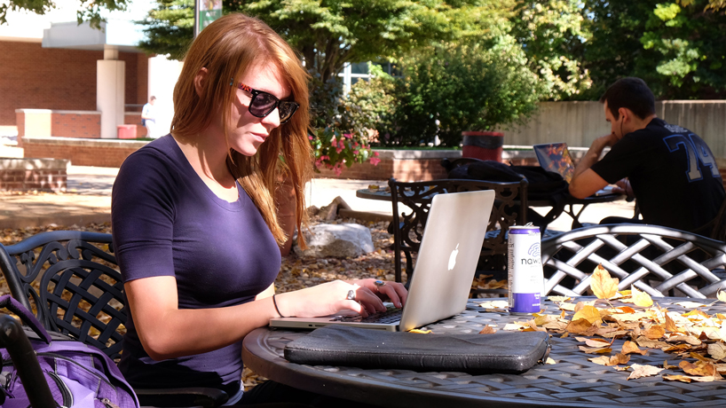
[[[410,274],[413,273],[410,254],[417,252],[421,246],[423,227],[426,225],[431,198],[436,194],[493,190],[496,192],[496,200],[486,230],[507,231],[510,225],[526,224],[526,180],[512,183],[457,179],[399,182],[395,178],[391,178],[388,184],[391,188],[393,203],[391,233],[393,234],[395,275],[398,282],[402,281],[401,251],[406,254],[406,278],[410,279]],[[399,203],[406,205],[411,211],[408,213],[404,211],[399,214]],[[515,210],[515,208],[522,208],[523,210]],[[506,255],[506,253],[507,241],[505,234],[487,233],[482,247],[482,255]]]

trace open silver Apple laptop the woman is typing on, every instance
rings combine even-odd
[[[341,312],[322,318],[272,318],[272,327],[314,329],[328,325],[408,331],[461,313],[484,243],[494,203],[493,190],[438,194],[431,200],[429,218],[403,311],[361,318]]]

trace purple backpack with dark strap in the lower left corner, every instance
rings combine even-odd
[[[55,403],[67,408],[138,408],[138,399],[114,361],[99,349],[45,331],[40,322],[10,295],[0,297],[0,308],[18,315],[32,329],[28,338],[35,350]],[[37,339],[36,339],[37,337]],[[61,340],[62,339],[62,340]],[[23,388],[7,349],[0,349],[3,370],[0,393],[3,408],[28,408],[33,389]],[[4,378],[3,378],[4,377]],[[37,391],[36,391],[37,392]]]

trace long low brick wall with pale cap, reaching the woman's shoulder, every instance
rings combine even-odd
[[[20,137],[19,137],[20,139]],[[67,159],[75,166],[120,167],[148,142],[72,137],[22,137],[26,156]]]

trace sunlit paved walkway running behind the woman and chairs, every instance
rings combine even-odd
[[[0,154],[2,156],[3,154]],[[7,156],[5,156],[7,157]],[[83,225],[111,220],[111,189],[118,169],[70,166],[66,193],[37,193],[26,195],[0,194],[0,228],[26,228],[48,224]],[[327,206],[341,197],[354,211],[375,215],[392,215],[388,201],[364,200],[355,196],[356,190],[369,184],[385,185],[383,180],[313,179],[307,186],[307,206]],[[544,213],[547,208],[541,208]],[[633,204],[619,201],[589,206],[580,221],[597,223],[604,216],[632,216]],[[568,231],[572,219],[561,216],[550,228]]]

